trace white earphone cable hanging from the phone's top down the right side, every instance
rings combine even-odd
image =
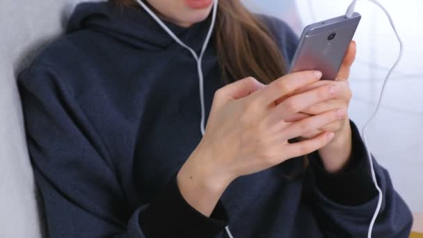
[[[346,17],[351,17],[353,15],[354,8],[356,6],[356,1],[357,0],[353,0],[353,2],[351,2],[349,8],[346,10],[346,13],[345,13]],[[367,233],[367,237],[368,238],[372,238],[372,230],[373,230],[373,227],[374,227],[374,223],[376,222],[376,218],[377,218],[377,216],[378,216],[378,214],[379,214],[379,212],[381,210],[383,194],[382,194],[381,188],[378,186],[378,182],[377,182],[377,179],[376,179],[376,173],[374,172],[374,166],[373,166],[373,160],[372,160],[372,152],[370,152],[370,148],[369,148],[369,145],[367,143],[366,132],[367,132],[367,128],[368,128],[370,122],[372,122],[372,120],[376,117],[376,114],[378,113],[379,109],[381,108],[382,100],[383,100],[383,97],[385,95],[386,85],[388,84],[388,80],[390,79],[390,75],[392,74],[392,72],[394,71],[394,69],[397,68],[397,65],[398,65],[399,61],[401,61],[402,54],[403,54],[403,51],[404,51],[404,45],[403,45],[403,42],[402,42],[401,38],[399,37],[399,34],[397,32],[397,28],[395,27],[394,22],[392,20],[392,17],[389,14],[388,10],[386,10],[381,5],[381,3],[378,3],[378,1],[375,1],[375,0],[367,0],[367,1],[371,1],[372,3],[376,4],[379,8],[381,8],[383,10],[383,12],[385,13],[385,15],[388,17],[389,22],[390,22],[390,24],[392,26],[392,29],[393,29],[395,35],[397,36],[397,40],[399,42],[399,54],[398,54],[398,58],[395,61],[394,65],[392,65],[392,68],[390,68],[388,74],[386,75],[385,80],[383,81],[383,86],[382,86],[381,94],[379,95],[379,100],[378,100],[378,104],[376,106],[376,109],[375,109],[374,113],[372,114],[372,117],[370,117],[369,120],[365,123],[365,126],[362,127],[362,132],[361,132],[362,133],[362,137],[363,137],[363,142],[365,143],[365,147],[366,147],[366,151],[367,151],[367,157],[369,158],[369,162],[370,162],[371,173],[372,173],[372,180],[373,180],[374,186],[376,187],[376,189],[378,191],[378,194],[379,194],[378,195],[378,204],[376,206],[376,210],[375,210],[375,212],[373,214],[372,221],[370,222],[370,225],[369,225],[369,231]]]

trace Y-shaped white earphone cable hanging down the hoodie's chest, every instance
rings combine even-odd
[[[182,40],[180,40],[169,28],[164,24],[163,21],[157,15],[148,8],[148,6],[143,3],[141,0],[136,0],[142,8],[163,28],[164,31],[166,31],[175,42],[177,42],[179,45],[184,47],[185,49],[188,49],[193,57],[195,58],[195,61],[197,61],[197,70],[198,70],[198,82],[200,84],[200,103],[201,103],[201,122],[200,122],[200,132],[202,136],[204,136],[205,133],[205,102],[204,102],[204,75],[202,73],[202,56],[204,56],[204,53],[207,49],[207,45],[209,44],[210,38],[212,37],[214,25],[216,23],[216,15],[217,15],[217,8],[218,8],[218,0],[214,0],[213,5],[213,13],[212,13],[212,22],[210,24],[209,31],[207,32],[207,36],[205,39],[204,44],[202,45],[200,56],[198,56],[191,47],[188,45],[185,45]],[[234,238],[229,230],[229,226],[227,225],[225,227],[226,233],[228,234],[229,238]]]

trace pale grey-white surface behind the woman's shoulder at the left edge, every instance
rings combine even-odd
[[[0,1],[0,237],[42,237],[15,80],[81,0]]]

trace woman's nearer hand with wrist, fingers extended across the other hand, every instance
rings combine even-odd
[[[328,144],[333,138],[328,132],[297,143],[288,140],[342,120],[344,116],[338,116],[336,110],[285,122],[334,97],[328,86],[290,96],[320,78],[320,72],[304,71],[287,74],[267,86],[246,78],[217,90],[202,141],[177,175],[179,190],[186,201],[209,216],[235,178]]]

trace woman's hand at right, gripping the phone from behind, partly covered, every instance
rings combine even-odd
[[[315,88],[328,88],[333,87],[333,97],[321,102],[319,104],[314,104],[308,109],[304,110],[302,113],[298,113],[296,118],[292,118],[289,121],[297,121],[309,116],[314,116],[325,111],[330,111],[334,109],[340,109],[342,113],[348,112],[349,102],[351,100],[351,89],[349,88],[348,78],[351,65],[356,57],[356,42],[351,42],[349,49],[344,57],[342,62],[340,72],[337,74],[337,79],[333,80],[320,80],[314,84],[310,84],[301,90],[297,90],[296,93],[303,93]],[[324,90],[322,90],[324,91]],[[295,93],[295,94],[296,94]],[[342,120],[333,122],[330,125],[321,127],[314,132],[309,132],[308,134],[303,135],[304,138],[312,138],[321,134],[322,132],[333,132],[335,137],[333,141],[326,145],[324,148],[319,150],[319,155],[322,159],[324,167],[330,173],[336,173],[337,171],[344,168],[346,163],[351,157],[351,147],[352,147],[352,138],[351,138],[351,125],[349,122],[349,117],[346,116]]]

